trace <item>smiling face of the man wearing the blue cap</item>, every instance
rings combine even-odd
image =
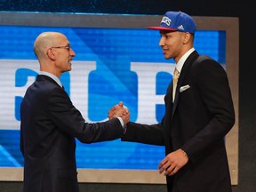
[[[191,34],[180,31],[160,30],[159,46],[162,47],[166,60],[174,59],[176,63],[183,54],[193,47]]]

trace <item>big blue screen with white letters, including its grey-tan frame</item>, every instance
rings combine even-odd
[[[104,121],[108,108],[119,100],[132,112],[133,122],[156,124],[161,121],[164,94],[172,81],[174,63],[164,60],[160,54],[159,32],[143,26],[156,26],[162,17],[24,12],[0,16],[8,18],[8,23],[2,23],[0,28],[0,38],[4,40],[0,48],[3,52],[0,60],[1,180],[22,180],[20,101],[38,72],[38,62],[31,50],[42,31],[60,31],[68,36],[71,45],[79,45],[73,47],[76,58],[72,71],[63,74],[60,80],[87,122]],[[70,20],[73,20],[73,28],[67,22]],[[196,50],[218,60],[228,73],[236,124],[228,133],[226,145],[232,184],[237,185],[238,20],[213,17],[195,17],[195,20]],[[42,27],[45,25],[56,26]],[[76,144],[80,182],[165,183],[156,168],[164,157],[164,147],[120,140],[90,145],[78,141]],[[108,178],[102,177],[105,174]]]

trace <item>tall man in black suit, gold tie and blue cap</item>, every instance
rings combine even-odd
[[[166,12],[160,27],[149,28],[160,31],[159,45],[165,59],[175,60],[178,83],[167,89],[162,122],[130,122],[122,140],[165,146],[158,169],[166,175],[168,192],[230,192],[224,138],[235,124],[235,111],[226,71],[196,52],[196,23],[188,14]],[[108,117],[122,106],[109,110]]]

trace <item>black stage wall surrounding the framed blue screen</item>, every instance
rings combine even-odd
[[[22,1],[24,2],[24,1]],[[45,1],[47,3],[47,1]],[[63,1],[64,2],[64,1]],[[253,81],[255,67],[253,65],[253,50],[249,45],[255,44],[255,38],[250,36],[255,12],[252,4],[233,1],[71,1],[69,4],[20,4],[21,2],[1,1],[3,11],[30,12],[106,12],[106,13],[134,13],[134,14],[163,14],[168,10],[182,10],[195,16],[234,16],[240,19],[240,113],[239,113],[239,184],[234,191],[254,192],[255,187],[255,89]],[[99,3],[100,2],[100,3]],[[60,1],[59,1],[60,3]],[[62,2],[61,2],[62,3]],[[75,8],[74,5],[75,4]],[[55,6],[54,6],[55,5]],[[157,6],[156,6],[157,5]],[[78,8],[77,8],[78,6]],[[70,10],[71,8],[74,8]],[[77,10],[76,10],[77,8]],[[108,8],[108,9],[107,9]],[[99,9],[101,9],[99,11]],[[251,31],[251,32],[250,32]],[[250,38],[250,39],[249,39]],[[1,191],[20,191],[21,183],[1,183]],[[84,191],[165,191],[163,185],[120,185],[120,184],[81,184]]]

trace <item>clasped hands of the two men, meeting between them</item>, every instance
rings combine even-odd
[[[108,110],[108,118],[116,118],[121,117],[123,119],[124,124],[127,124],[130,121],[130,111],[128,108],[124,107],[122,101],[115,105],[113,108]]]

